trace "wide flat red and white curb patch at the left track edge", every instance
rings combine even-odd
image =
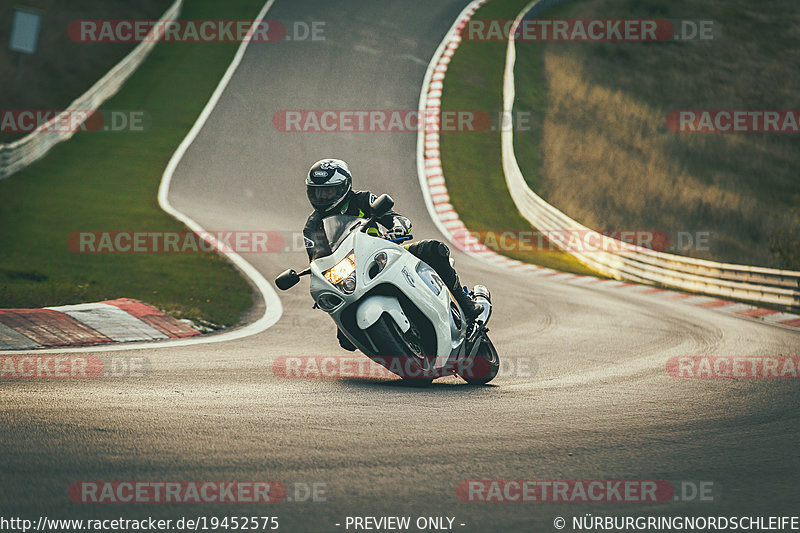
[[[97,346],[200,335],[200,331],[138,300],[0,309],[0,350]]]

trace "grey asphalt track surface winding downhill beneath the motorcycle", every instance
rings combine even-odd
[[[324,42],[253,44],[174,176],[170,199],[210,230],[297,230],[311,162],[350,162],[389,192],[418,238],[438,237],[414,133],[282,133],[285,109],[416,109],[425,65],[462,1],[289,2],[268,19],[324,20]],[[499,162],[498,162],[499,164]],[[493,386],[414,389],[385,379],[284,379],[281,356],[343,354],[307,281],[267,331],[137,350],[139,379],[2,383],[0,509],[50,518],[276,515],[282,531],[340,531],[346,516],[454,516],[463,531],[554,531],[556,516],[796,514],[797,380],[667,375],[683,355],[799,355],[800,335],[629,292],[498,272],[455,254],[493,293]],[[303,252],[247,257],[268,279]],[[102,354],[100,354],[102,355]],[[467,503],[467,479],[712,481],[713,502]],[[86,505],[79,480],[324,483],[325,502]],[[342,526],[335,526],[341,523]],[[460,526],[459,524],[465,524]],[[567,526],[567,531],[571,526]]]

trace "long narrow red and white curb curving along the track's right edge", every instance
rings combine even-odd
[[[461,30],[467,25],[478,8],[487,1],[475,0],[468,4],[459,14],[428,65],[420,93],[420,116],[437,117],[437,120],[430,120],[417,137],[417,173],[428,213],[448,241],[455,248],[481,261],[517,272],[547,276],[564,283],[592,285],[604,289],[628,290],[659,298],[679,300],[689,305],[705,307],[714,311],[800,331],[800,315],[797,314],[781,313],[748,304],[658,289],[648,285],[559,272],[551,268],[524,263],[500,255],[471,236],[450,203],[450,196],[447,193],[439,146],[440,122],[438,117],[441,114],[442,90],[444,89],[447,67],[459,44],[461,44]]]

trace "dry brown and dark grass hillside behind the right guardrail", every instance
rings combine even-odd
[[[796,0],[591,0],[564,16],[713,19],[723,36],[545,45],[538,191],[590,227],[710,231],[711,251],[688,255],[800,269],[800,134],[666,123],[676,109],[800,108]],[[518,71],[535,47],[518,46]]]

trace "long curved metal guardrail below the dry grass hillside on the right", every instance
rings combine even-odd
[[[536,0],[517,16],[509,35],[503,78],[503,108],[514,106],[514,33],[525,16],[559,3],[558,0]],[[555,232],[553,243],[594,270],[623,281],[655,284],[680,290],[800,309],[800,272],[746,265],[717,263],[679,255],[656,252],[595,232],[573,220],[533,192],[514,155],[512,113],[504,113],[502,126],[503,171],[511,198],[519,212],[534,227],[580,231],[591,236],[584,242],[585,251],[574,251]],[[569,233],[569,232],[567,232]],[[615,250],[615,251],[608,251]]]

